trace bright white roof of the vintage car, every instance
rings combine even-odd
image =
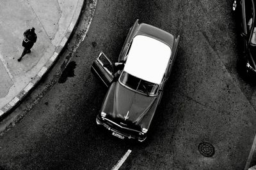
[[[172,50],[165,43],[137,35],[132,41],[124,71],[146,81],[160,84]]]

